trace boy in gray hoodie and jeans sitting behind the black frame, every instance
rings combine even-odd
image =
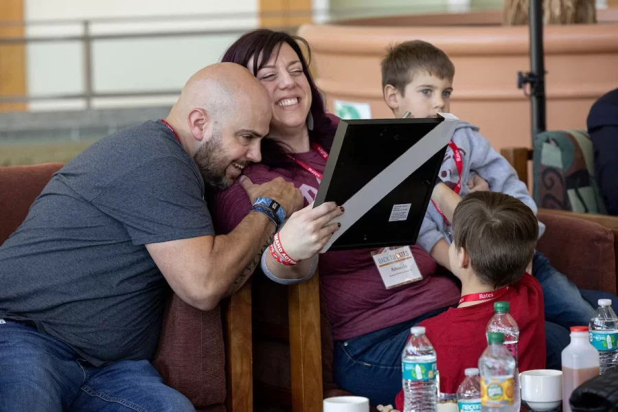
[[[442,50],[424,41],[407,41],[392,47],[382,60],[383,96],[396,117],[406,111],[413,117],[436,117],[438,112],[450,110],[454,76],[455,66]],[[481,136],[477,126],[458,124],[439,177],[459,196],[479,189],[502,192],[518,198],[537,213],[526,185],[508,161]],[[485,182],[488,187],[483,187]],[[538,229],[540,238],[545,225],[539,222]],[[451,241],[448,220],[430,203],[417,243],[439,264],[450,269]],[[578,290],[538,251],[532,260],[532,275],[538,279],[545,299],[547,367],[560,369],[560,354],[569,344],[568,328],[587,325],[595,315],[597,299],[609,297],[616,302],[617,298],[593,290]]]

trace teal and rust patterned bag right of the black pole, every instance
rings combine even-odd
[[[532,192],[538,207],[605,214],[585,130],[539,133],[533,153]]]

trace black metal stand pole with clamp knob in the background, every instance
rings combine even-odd
[[[543,56],[543,6],[542,0],[529,0],[530,71],[517,73],[517,87],[530,84],[531,139],[545,131],[545,58]]]

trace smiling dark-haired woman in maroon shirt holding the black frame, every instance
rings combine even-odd
[[[371,255],[375,249],[327,252],[318,261],[318,246],[332,233],[328,222],[342,212],[338,208],[318,218],[323,205],[311,209],[339,119],[325,113],[299,43],[308,49],[302,38],[255,30],[222,58],[247,67],[271,95],[273,117],[262,140],[262,163],[247,166],[244,176],[255,183],[282,176],[295,183],[308,205],[277,233],[262,255],[262,270],[275,282],[290,284],[311,277],[319,264],[320,293],[335,343],[336,384],[367,396],[371,404],[390,404],[401,389],[401,352],[411,326],[456,304],[459,288],[453,279],[435,275],[437,264],[417,246],[410,251],[422,279],[389,289]],[[238,184],[217,194],[213,205],[220,233],[231,231],[251,209]],[[317,241],[316,233],[328,235]]]

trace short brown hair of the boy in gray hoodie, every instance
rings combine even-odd
[[[404,95],[407,84],[420,70],[441,79],[453,80],[455,77],[455,66],[446,53],[421,40],[404,41],[389,47],[381,66],[382,90],[391,84],[401,95]]]

